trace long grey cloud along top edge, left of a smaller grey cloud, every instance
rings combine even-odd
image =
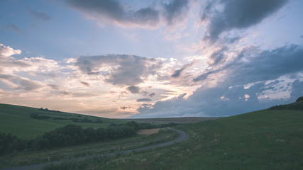
[[[68,0],[68,3],[84,13],[109,21],[127,24],[154,26],[159,22],[159,12],[154,8],[127,11],[121,1],[115,0]]]

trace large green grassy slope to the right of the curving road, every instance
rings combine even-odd
[[[303,101],[229,118],[179,125],[187,141],[111,159],[45,169],[302,169]]]

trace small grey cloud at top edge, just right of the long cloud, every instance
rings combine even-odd
[[[173,0],[163,6],[165,8],[164,17],[168,25],[172,25],[175,20],[182,20],[187,16],[188,0]]]

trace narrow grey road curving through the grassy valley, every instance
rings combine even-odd
[[[175,143],[187,140],[187,138],[189,137],[189,135],[186,132],[183,132],[181,130],[176,130],[176,129],[173,129],[173,128],[167,128],[167,129],[178,132],[179,137],[177,137],[175,140],[160,143],[160,144],[157,144],[157,145],[150,145],[150,146],[147,146],[147,147],[139,147],[139,148],[136,148],[136,149],[129,149],[129,150],[121,151],[121,152],[111,152],[111,153],[106,153],[106,154],[97,154],[97,155],[89,156],[89,157],[79,157],[79,158],[74,158],[74,159],[70,159],[70,160],[71,161],[80,161],[80,160],[89,159],[89,158],[92,158],[92,157],[114,156],[115,154],[129,154],[131,152],[139,152],[139,151],[148,150],[148,149],[155,149],[157,147],[166,147],[168,145],[173,145]],[[40,163],[40,164],[29,164],[29,165],[16,166],[16,167],[5,168],[5,169],[0,169],[0,170],[40,170],[45,165],[56,164],[56,163],[60,163],[60,161],[45,162],[45,163]]]

